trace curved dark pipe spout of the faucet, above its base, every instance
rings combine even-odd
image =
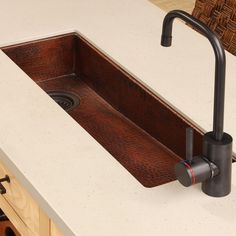
[[[215,53],[215,88],[214,88],[214,114],[213,135],[220,141],[223,137],[224,126],[224,100],[225,100],[225,51],[217,36],[201,21],[187,12],[181,10],[170,11],[164,18],[162,26],[161,45],[171,46],[172,26],[175,18],[180,18],[201,32],[210,41]]]

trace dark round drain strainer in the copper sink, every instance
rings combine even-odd
[[[79,105],[79,98],[72,93],[62,91],[50,91],[47,94],[65,111],[69,111]]]

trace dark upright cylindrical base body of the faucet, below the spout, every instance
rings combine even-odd
[[[203,137],[203,156],[214,163],[219,174],[202,183],[202,191],[212,197],[224,197],[231,191],[232,137],[224,133],[221,141],[216,141],[213,132]]]

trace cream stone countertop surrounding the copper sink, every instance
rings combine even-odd
[[[0,0],[0,6],[0,46],[77,31],[203,130],[211,130],[211,46],[176,21],[173,46],[162,48],[164,13],[148,1]],[[233,137],[235,64],[227,53],[225,130]],[[232,194],[220,199],[204,195],[198,185],[144,188],[1,51],[0,78],[1,159],[65,235],[235,232],[235,171]]]

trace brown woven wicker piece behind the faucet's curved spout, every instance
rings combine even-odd
[[[196,0],[192,14],[219,36],[226,50],[236,55],[236,0]]]

